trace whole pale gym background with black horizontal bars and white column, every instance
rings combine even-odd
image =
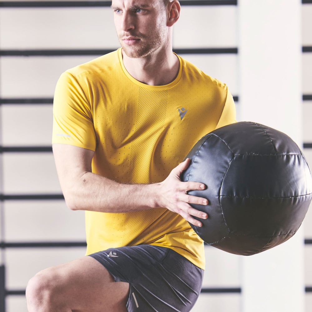
[[[290,134],[311,167],[312,1],[180,3],[174,51],[229,86],[237,120]],[[85,254],[84,212],[66,207],[51,152],[52,102],[63,71],[119,47],[110,4],[0,1],[0,312],[27,311],[34,274]],[[280,62],[285,73],[274,66]],[[265,80],[257,80],[259,72]],[[264,311],[265,301],[266,311],[312,312],[311,211],[292,240],[286,251],[277,247],[251,263],[205,246],[205,279],[192,311]],[[256,275],[259,263],[268,277]],[[250,303],[248,292],[255,293]]]

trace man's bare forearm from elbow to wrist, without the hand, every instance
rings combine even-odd
[[[72,210],[131,212],[155,208],[157,184],[122,184],[86,172],[63,187],[67,206]]]

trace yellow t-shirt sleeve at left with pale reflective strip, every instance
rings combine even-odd
[[[52,144],[69,144],[95,151],[92,106],[86,94],[90,94],[90,90],[83,90],[69,72],[61,75],[53,100]]]

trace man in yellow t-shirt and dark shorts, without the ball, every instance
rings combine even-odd
[[[121,49],[61,75],[53,153],[66,204],[85,210],[88,256],[35,275],[29,312],[189,311],[207,214],[181,182],[204,134],[235,122],[227,86],[172,51],[177,0],[113,0]],[[180,163],[180,164],[179,164]],[[188,222],[187,222],[188,221]]]

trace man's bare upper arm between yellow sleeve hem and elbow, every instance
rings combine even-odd
[[[85,173],[92,172],[94,151],[69,144],[52,144],[57,175],[63,192]]]

